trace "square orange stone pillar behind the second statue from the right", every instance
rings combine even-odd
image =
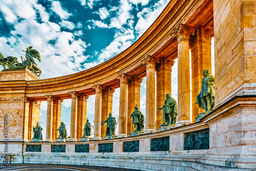
[[[162,108],[166,94],[172,96],[172,66],[174,61],[168,59],[160,59],[156,65],[157,76],[157,108]],[[156,130],[163,123],[163,111],[157,110]]]

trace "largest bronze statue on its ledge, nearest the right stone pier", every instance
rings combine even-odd
[[[196,121],[199,121],[200,118],[204,117],[205,115],[209,114],[214,107],[214,83],[215,78],[214,76],[210,75],[210,71],[208,69],[203,71],[204,78],[202,79],[202,89],[200,94],[197,96],[197,104],[199,108],[204,109],[205,112],[199,114],[196,117]]]

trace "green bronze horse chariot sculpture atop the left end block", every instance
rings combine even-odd
[[[7,56],[6,58],[4,58],[4,56],[0,53],[0,64],[4,67],[4,69],[6,69],[5,66],[7,66],[8,69],[27,68],[39,77],[41,75],[41,70],[36,65],[33,58],[36,58],[40,62],[40,53],[37,50],[32,49],[32,46],[28,47],[26,51],[23,50],[23,52],[26,52],[26,54],[25,58],[21,56],[22,63],[18,62],[17,57]]]

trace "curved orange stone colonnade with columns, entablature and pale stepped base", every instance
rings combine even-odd
[[[153,25],[131,47],[108,61],[79,73],[38,80],[39,78],[31,76],[29,71],[24,71],[27,76],[25,74],[24,79],[20,80],[14,71],[11,79],[8,76],[9,71],[2,71],[0,74],[0,106],[4,114],[10,110],[8,106],[15,106],[15,114],[8,117],[19,122],[10,127],[8,141],[12,142],[11,144],[15,147],[15,150],[10,150],[13,154],[10,162],[75,163],[143,170],[178,170],[185,169],[185,167],[191,170],[204,170],[205,168],[206,170],[212,168],[223,170],[224,167],[219,166],[225,166],[225,169],[230,167],[252,168],[255,162],[251,159],[254,155],[251,155],[251,158],[242,159],[244,157],[243,146],[220,139],[216,131],[218,127],[226,126],[223,120],[226,119],[228,123],[232,123],[235,118],[234,116],[231,119],[227,117],[227,110],[239,110],[243,97],[223,101],[224,97],[220,95],[216,99],[214,112],[204,117],[201,122],[195,123],[195,117],[202,113],[202,110],[194,101],[201,90],[202,71],[204,69],[211,71],[211,37],[214,36],[214,27],[215,29],[220,27],[214,22],[214,9],[220,10],[218,3],[221,4],[217,2],[214,5],[211,0],[170,1]],[[219,15],[222,14],[217,13],[215,17]],[[220,33],[217,33],[216,42],[220,37]],[[192,72],[192,118],[190,118],[189,98],[189,49]],[[160,108],[164,103],[165,95],[171,94],[171,73],[176,58],[178,58],[177,124],[172,130],[160,132],[158,127],[161,125],[162,116],[156,115],[155,105]],[[218,74],[216,74],[217,80],[220,79],[220,74]],[[140,83],[141,78],[145,76],[145,134],[127,138],[127,135],[134,129],[132,121],[127,119],[127,114],[132,113],[136,104],[139,106]],[[216,88],[223,86],[219,85],[217,82]],[[117,88],[120,88],[119,135],[117,139],[97,141],[101,140],[105,134],[106,127],[101,128],[100,123],[112,111],[113,92]],[[94,94],[96,95],[93,138],[95,141],[79,141],[86,122],[87,99]],[[74,142],[54,142],[60,124],[61,102],[68,98],[72,99],[70,141]],[[26,142],[32,138],[32,124],[39,119],[40,101],[46,100],[48,105],[45,141],[48,142]],[[253,100],[254,97],[251,97],[248,103]],[[236,123],[233,122],[233,124]],[[204,130],[209,130],[208,148],[185,151],[185,135]],[[230,125],[224,130],[225,135],[228,135]],[[224,135],[224,133],[220,134]],[[158,138],[164,137],[168,139],[168,149],[164,150],[166,152],[155,151],[152,147],[152,139],[157,141]],[[0,138],[4,139],[2,135]],[[130,141],[139,141],[139,149],[134,153],[124,153],[124,143]],[[28,145],[32,143],[41,145],[40,154],[27,151]],[[52,146],[56,143],[65,144],[65,152],[54,153]],[[76,145],[79,144],[88,148],[87,154],[76,152]],[[87,144],[89,146],[86,147]],[[101,153],[101,144],[112,144],[113,155]],[[240,156],[240,161],[236,159],[237,156]],[[248,165],[248,161],[252,164]],[[134,163],[136,164],[132,165]]]

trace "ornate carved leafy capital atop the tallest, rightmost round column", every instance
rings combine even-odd
[[[195,33],[196,28],[189,28],[180,24],[178,29],[174,29],[174,33],[170,34],[173,38],[177,38],[178,44],[180,41],[189,41],[190,34]]]

